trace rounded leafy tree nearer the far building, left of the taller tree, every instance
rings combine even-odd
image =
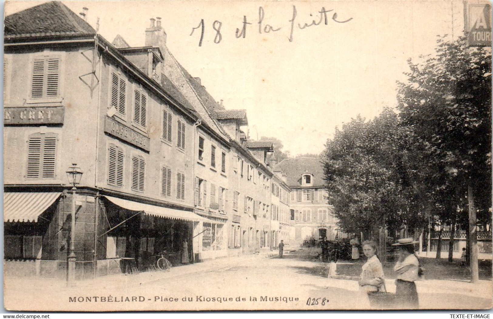
[[[414,175],[409,161],[409,130],[386,108],[374,120],[360,116],[336,129],[322,153],[329,201],[347,232],[370,234],[387,225],[422,225]],[[413,172],[414,171],[414,172]],[[416,203],[413,205],[412,203]]]

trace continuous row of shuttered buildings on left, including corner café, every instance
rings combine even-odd
[[[180,265],[286,235],[272,143],[248,141],[245,110],[176,61],[159,19],[142,35],[144,47],[110,43],[57,1],[5,18],[6,274],[65,277],[74,253],[75,277],[94,278],[145,270],[161,251]]]

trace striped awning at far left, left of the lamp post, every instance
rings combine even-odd
[[[3,193],[3,222],[37,222],[37,218],[61,192]]]

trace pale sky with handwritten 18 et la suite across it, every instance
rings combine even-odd
[[[226,109],[247,110],[250,138],[276,137],[293,156],[322,152],[358,114],[395,107],[407,60],[464,28],[461,0],[63,2],[89,8],[108,41],[137,47],[161,17],[176,60]],[[6,2],[5,14],[39,3]]]

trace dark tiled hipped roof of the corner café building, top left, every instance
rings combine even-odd
[[[93,35],[81,17],[60,1],[36,5],[5,17],[5,39],[52,35]]]

